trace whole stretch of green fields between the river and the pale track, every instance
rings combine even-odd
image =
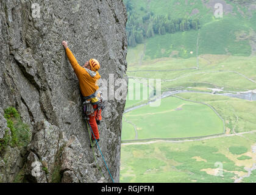
[[[256,101],[200,93],[180,93],[177,97],[210,105],[224,120],[226,133],[256,130]],[[170,97],[162,99],[160,107],[146,105],[125,113],[126,121],[133,125],[123,119],[122,140],[135,139],[134,128],[138,139],[201,137],[224,132],[222,119],[212,108],[190,101]]]

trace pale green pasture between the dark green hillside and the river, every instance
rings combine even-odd
[[[145,65],[129,67],[128,75],[130,77],[144,77],[147,79],[161,78],[163,91],[174,87],[224,87],[224,90],[227,91],[255,89],[256,69],[254,65],[256,57],[200,55],[199,69],[193,69],[196,67],[196,58],[165,58],[148,60],[144,63]],[[147,63],[149,65],[146,65]]]

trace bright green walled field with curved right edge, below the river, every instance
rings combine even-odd
[[[224,124],[212,108],[179,98],[165,98],[160,107],[146,105],[124,116],[136,124],[138,139],[201,137],[224,132]],[[129,130],[123,127],[126,131]],[[127,133],[122,135],[122,140],[129,138]]]

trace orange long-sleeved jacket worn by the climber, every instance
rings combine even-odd
[[[77,63],[76,58],[74,57],[69,48],[66,48],[66,55],[68,56],[68,60],[71,63],[74,72],[76,73],[76,76],[79,80],[79,86],[82,95],[85,97],[90,96],[98,90],[99,86],[97,85],[97,80],[100,79],[101,76],[99,75],[98,71],[96,71],[96,76],[91,77],[90,74],[87,73],[87,71]]]

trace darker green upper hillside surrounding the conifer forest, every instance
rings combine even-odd
[[[198,30],[144,37],[143,43],[146,48],[144,60],[170,56],[190,58],[200,54],[249,56],[256,52],[256,7],[247,1],[242,3],[215,0],[179,2],[129,0],[128,2],[136,10],[138,18],[152,13],[154,16],[168,16],[173,20],[179,18],[199,20]],[[216,3],[221,3],[223,6],[222,18],[215,17]]]

